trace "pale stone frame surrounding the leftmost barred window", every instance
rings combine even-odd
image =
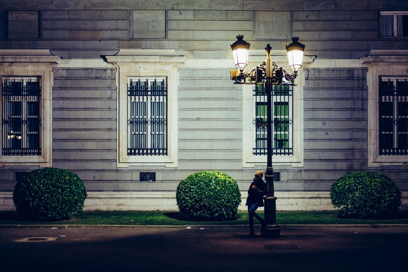
[[[41,155],[3,156],[0,153],[0,167],[7,165],[52,166],[52,86],[54,80],[52,69],[60,62],[60,58],[51,55],[49,50],[0,50],[1,77],[41,78]],[[2,105],[2,101],[0,104]],[[0,133],[2,135],[2,126]],[[2,142],[0,142],[0,148],[2,149]]]

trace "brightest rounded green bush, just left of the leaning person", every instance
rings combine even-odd
[[[218,171],[200,171],[187,176],[177,186],[177,205],[189,218],[229,220],[241,203],[236,181]]]

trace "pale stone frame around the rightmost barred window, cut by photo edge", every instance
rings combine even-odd
[[[371,50],[360,63],[368,67],[368,166],[406,165],[407,155],[380,155],[379,77],[407,77],[408,50]]]

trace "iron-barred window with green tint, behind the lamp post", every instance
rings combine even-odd
[[[272,133],[273,154],[291,155],[293,154],[292,137],[292,94],[293,86],[274,85],[272,92],[273,120]],[[267,153],[267,127],[268,127],[268,107],[266,90],[263,85],[255,85],[253,90],[255,102],[255,146],[253,154],[264,155]]]

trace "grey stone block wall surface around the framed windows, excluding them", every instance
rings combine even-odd
[[[295,148],[302,149],[303,159],[296,167],[274,160],[281,174],[275,189],[282,210],[330,209],[332,182],[352,171],[381,171],[408,190],[407,165],[368,166],[367,67],[359,59],[372,49],[408,48],[405,38],[380,38],[379,11],[385,9],[408,10],[408,3],[0,0],[0,55],[49,50],[61,59],[53,69],[52,165],[84,180],[92,196],[89,209],[170,209],[178,182],[203,169],[232,176],[245,196],[253,173],[265,163],[243,166],[244,96],[242,86],[230,80],[230,44],[244,35],[252,65],[264,60],[270,43],[274,60],[284,60],[278,64],[286,67],[285,46],[299,36],[313,59],[297,79],[303,138]],[[186,58],[177,88],[170,90],[178,97],[177,167],[117,167],[117,67],[104,56],[121,50]],[[2,167],[0,192],[12,191],[15,172],[36,168]],[[146,171],[156,173],[155,182],[140,182]],[[3,196],[0,206],[10,207],[9,195]]]

